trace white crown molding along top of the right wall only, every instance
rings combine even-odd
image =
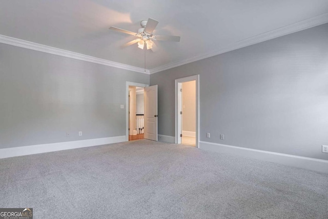
[[[302,20],[302,21],[294,23],[292,25],[284,26],[282,28],[278,28],[278,29],[275,29],[275,30],[272,30],[272,31],[262,33],[262,34],[258,34],[256,36],[252,36],[252,37],[247,38],[247,39],[237,41],[237,42],[232,43],[231,45],[229,45],[227,47],[220,48],[218,50],[214,50],[214,51],[209,52],[209,53],[204,53],[204,54],[201,54],[201,55],[194,56],[192,58],[178,60],[178,61],[171,62],[171,63],[165,64],[165,65],[161,65],[160,67],[151,69],[150,74],[154,74],[154,73],[157,73],[157,72],[172,69],[172,68],[178,67],[178,66],[183,65],[183,64],[188,64],[188,63],[191,63],[191,62],[194,62],[194,61],[198,61],[198,60],[201,60],[201,59],[204,59],[204,58],[209,58],[209,57],[216,56],[216,55],[219,55],[219,54],[222,54],[222,53],[237,50],[237,49],[240,49],[240,48],[243,48],[243,47],[251,46],[251,45],[254,45],[254,44],[259,43],[259,42],[267,41],[269,39],[277,38],[277,37],[280,37],[280,36],[288,35],[288,34],[295,33],[295,32],[298,32],[298,31],[302,31],[302,30],[305,30],[305,29],[309,29],[309,28],[312,28],[312,27],[323,25],[325,23],[328,23],[328,13],[325,13],[325,14],[322,14],[322,15],[319,15],[319,16],[316,16],[316,17],[312,17],[310,19]]]

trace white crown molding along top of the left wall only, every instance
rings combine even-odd
[[[42,45],[39,43],[30,42],[30,41],[26,41],[23,39],[17,39],[17,38],[13,38],[10,36],[0,35],[0,42],[8,44],[8,45],[16,46],[16,47],[22,47],[22,48],[26,48],[26,49],[30,49],[30,50],[36,50],[39,52],[45,52],[45,53],[50,53],[50,54],[54,54],[54,55],[65,56],[65,57],[74,58],[74,59],[83,60],[83,61],[89,61],[89,62],[93,62],[93,63],[97,63],[97,64],[104,64],[104,65],[108,65],[108,66],[118,68],[118,69],[125,69],[125,70],[129,70],[129,71],[133,71],[133,72],[145,73],[145,69],[134,67],[132,65],[122,64],[122,63],[109,61],[109,60],[102,59],[102,58],[96,58],[93,56],[88,56],[88,55],[84,55],[84,54],[80,54],[80,53],[75,53],[75,52],[71,52],[71,51],[67,51],[67,50],[49,47],[49,46]],[[146,70],[145,74],[150,74],[149,70]]]

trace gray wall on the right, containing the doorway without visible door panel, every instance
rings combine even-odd
[[[328,160],[327,36],[325,24],[152,74],[158,133],[175,135],[174,80],[199,74],[200,141]]]

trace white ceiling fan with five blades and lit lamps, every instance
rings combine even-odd
[[[140,25],[141,28],[138,30],[138,33],[134,33],[132,31],[116,28],[116,27],[110,27],[110,30],[126,33],[133,35],[135,37],[138,37],[137,39],[134,39],[125,45],[122,45],[122,48],[131,46],[135,43],[138,43],[138,48],[144,49],[145,44],[147,50],[152,49],[152,51],[155,52],[156,45],[153,42],[153,40],[162,40],[162,41],[175,41],[179,42],[180,37],[179,36],[163,36],[163,35],[153,35],[153,31],[155,30],[156,26],[158,24],[157,20],[154,20],[152,18],[148,18],[148,20],[141,20]]]

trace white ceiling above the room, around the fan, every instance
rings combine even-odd
[[[147,69],[211,54],[227,45],[328,12],[327,0],[0,0],[0,34],[144,68],[136,45],[121,49],[140,20],[159,21],[155,34],[180,42],[156,41]]]

